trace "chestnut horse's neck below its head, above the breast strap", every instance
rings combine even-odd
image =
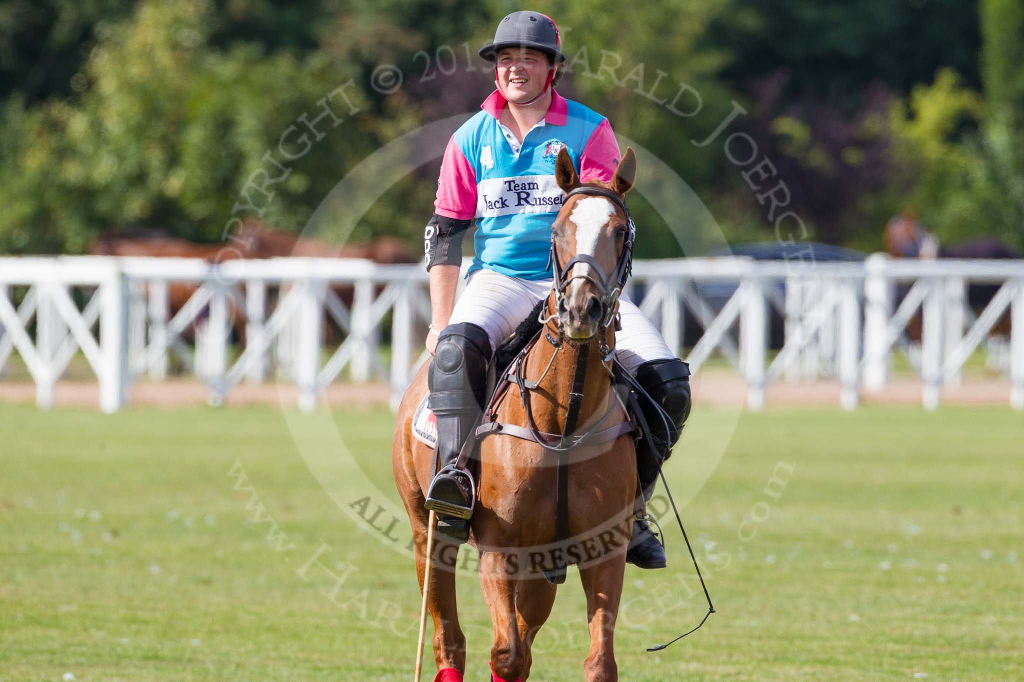
[[[551,315],[553,308],[553,303],[549,299],[547,315]],[[545,333],[557,338],[558,331],[552,323],[549,322],[546,327]],[[609,326],[585,344],[578,344],[567,338],[563,339],[560,349],[557,350],[557,355],[555,347],[545,337],[540,338],[534,345],[526,356],[525,375],[526,378],[534,381],[540,379],[537,390],[530,393],[530,406],[538,428],[549,434],[561,433],[568,411],[569,391],[572,387],[577,362],[580,359],[583,346],[589,347],[589,356],[587,375],[584,381],[583,403],[577,422],[579,424],[578,430],[604,414],[608,407],[611,381],[605,364],[601,360],[602,340],[606,344],[606,351],[613,348],[615,336],[612,327]],[[555,355],[554,361],[552,361],[552,355]],[[545,374],[549,363],[551,363],[551,368]],[[541,378],[542,374],[543,378]]]

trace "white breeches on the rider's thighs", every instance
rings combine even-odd
[[[469,276],[449,322],[471,322],[482,327],[494,350],[550,291],[550,279],[518,279],[493,270],[477,270]],[[623,328],[615,332],[615,357],[626,369],[636,372],[637,367],[649,360],[676,357],[650,320],[625,293],[618,298],[618,312]]]

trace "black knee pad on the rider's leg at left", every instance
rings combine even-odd
[[[438,415],[482,409],[489,360],[490,339],[481,327],[469,322],[444,327],[427,375],[430,409]]]

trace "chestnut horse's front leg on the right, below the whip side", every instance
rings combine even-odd
[[[626,556],[615,555],[597,565],[580,570],[583,589],[587,593],[587,620],[590,623],[590,653],[584,663],[587,682],[614,682],[618,679],[615,665],[615,619],[623,595]]]

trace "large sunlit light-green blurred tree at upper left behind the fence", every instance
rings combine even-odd
[[[369,119],[325,134],[294,163],[279,141],[302,115],[344,83],[323,54],[298,59],[258,46],[211,49],[211,5],[202,0],[143,2],[132,18],[105,25],[73,100],[38,110],[6,109],[0,198],[16,210],[0,216],[0,244],[10,251],[82,251],[104,228],[143,225],[198,239],[221,239],[250,174],[285,171],[273,196],[251,194],[271,223],[296,228],[337,181],[339,160],[372,148]],[[360,93],[346,91],[353,105]],[[347,105],[332,108],[345,117]],[[330,130],[330,124],[319,124]],[[307,138],[314,134],[308,132]],[[292,153],[303,138],[292,135]],[[269,158],[268,158],[269,156]]]

